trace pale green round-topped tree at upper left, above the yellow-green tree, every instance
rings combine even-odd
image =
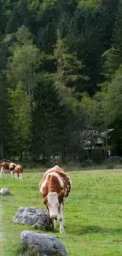
[[[32,104],[32,92],[42,56],[39,49],[32,44],[31,34],[27,28],[22,26],[16,35],[17,43],[11,48],[13,56],[9,58],[7,77],[13,87],[17,87],[18,83],[23,84]]]

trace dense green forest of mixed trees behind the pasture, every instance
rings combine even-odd
[[[1,159],[122,155],[122,0],[0,0],[0,134]]]

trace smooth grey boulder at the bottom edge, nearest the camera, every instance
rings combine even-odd
[[[23,231],[20,234],[22,255],[67,256],[64,245],[54,236]]]

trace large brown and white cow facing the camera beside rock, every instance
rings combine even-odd
[[[50,218],[60,221],[60,233],[64,233],[63,208],[64,200],[68,197],[71,190],[71,180],[67,173],[59,166],[49,169],[44,173],[43,179],[39,183],[44,204],[50,213]]]

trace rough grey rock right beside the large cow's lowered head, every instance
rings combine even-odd
[[[37,207],[20,207],[13,217],[13,222],[32,225],[37,229],[54,231],[54,221],[50,219],[47,210]]]

